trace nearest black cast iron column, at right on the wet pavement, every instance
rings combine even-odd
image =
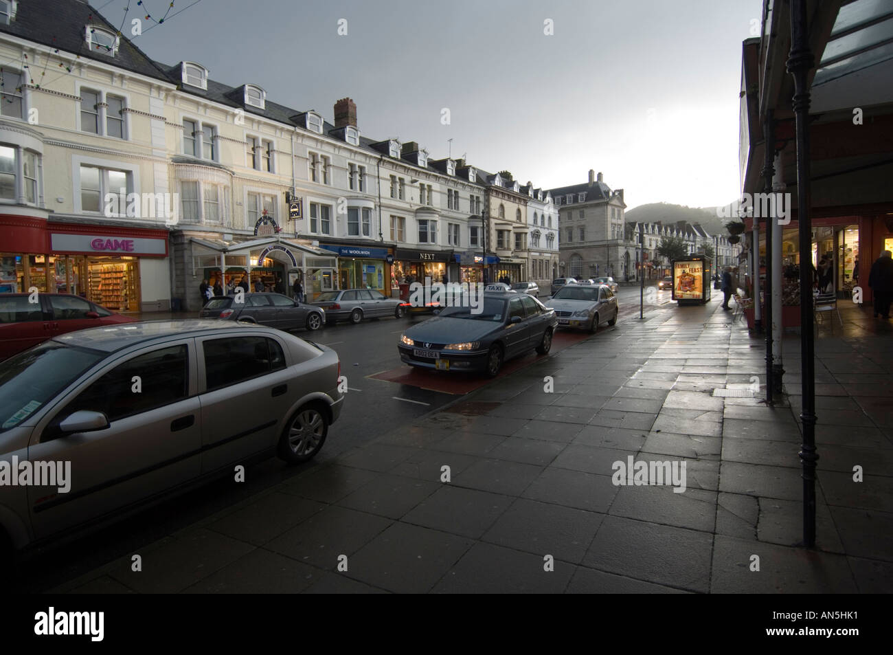
[[[806,76],[815,60],[806,30],[806,0],[790,3],[788,72],[794,76],[794,116],[797,120],[797,223],[800,237],[800,357],[803,390],[803,542],[815,545],[815,344],[813,335],[813,231],[809,166],[809,87]]]

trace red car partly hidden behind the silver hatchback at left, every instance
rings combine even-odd
[[[0,360],[53,337],[97,325],[134,323],[96,303],[66,293],[0,294]]]

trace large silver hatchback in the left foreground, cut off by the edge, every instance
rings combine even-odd
[[[226,321],[93,328],[19,353],[0,364],[0,461],[70,474],[68,489],[0,485],[0,545],[56,541],[273,453],[305,462],[341,412],[339,376],[330,348]]]

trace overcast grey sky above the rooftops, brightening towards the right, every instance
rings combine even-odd
[[[102,7],[99,0],[93,5]],[[144,0],[154,16],[167,0]],[[194,0],[177,0],[177,12]],[[118,24],[128,0],[104,16]],[[130,0],[129,18],[138,16]],[[163,63],[550,189],[604,172],[628,206],[739,197],[741,42],[760,0],[199,0],[134,38]],[[346,19],[347,35],[338,35]],[[554,35],[544,34],[551,19]],[[147,23],[148,24],[148,23]],[[146,24],[146,25],[147,25]],[[144,29],[146,29],[144,25]],[[451,122],[441,124],[448,107]]]

